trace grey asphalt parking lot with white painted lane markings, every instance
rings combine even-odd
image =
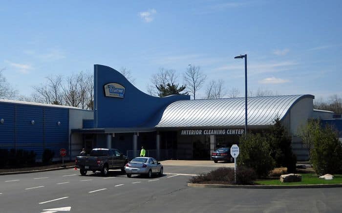
[[[338,212],[341,188],[211,189],[191,188],[192,175],[232,164],[165,161],[164,175],[126,177],[111,170],[81,176],[55,170],[0,176],[1,212]],[[310,195],[310,196],[309,196]]]

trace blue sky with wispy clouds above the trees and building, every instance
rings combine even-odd
[[[44,77],[131,70],[147,90],[160,67],[201,67],[244,92],[342,95],[340,0],[0,1],[0,68],[20,94]],[[199,95],[204,95],[203,86]]]

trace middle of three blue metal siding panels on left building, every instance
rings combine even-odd
[[[34,124],[31,121],[34,120]],[[43,107],[17,105],[17,149],[43,153]]]

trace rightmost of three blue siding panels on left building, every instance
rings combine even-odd
[[[45,149],[53,149],[55,157],[59,149],[69,148],[68,109],[45,108]],[[60,125],[58,125],[60,122]],[[57,152],[56,152],[57,150]]]

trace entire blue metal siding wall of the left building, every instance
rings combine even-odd
[[[59,149],[68,149],[68,109],[0,103],[1,118],[0,149],[33,150],[36,159],[41,159],[44,149],[53,150],[55,157],[59,157]]]

